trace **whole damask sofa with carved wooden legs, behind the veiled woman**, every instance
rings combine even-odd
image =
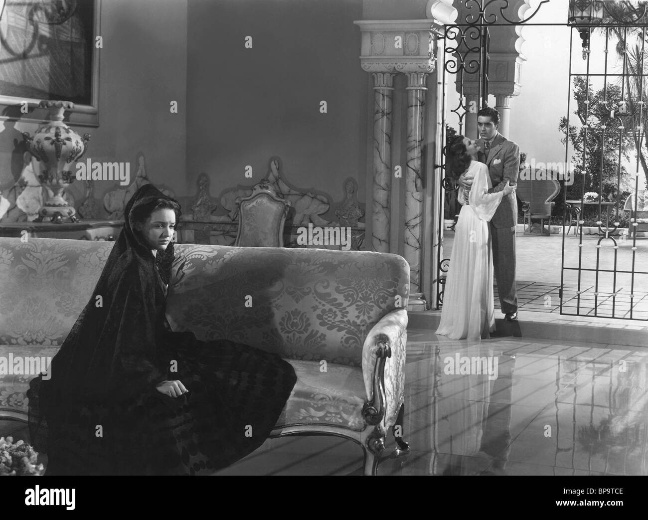
[[[89,300],[114,242],[0,238],[0,358],[52,357]],[[392,254],[176,244],[174,330],[279,353],[294,392],[273,437],[330,434],[376,472],[404,410],[409,266]],[[4,371],[3,371],[4,372]],[[0,374],[0,417],[26,419],[32,375]],[[400,426],[400,427],[398,427]]]

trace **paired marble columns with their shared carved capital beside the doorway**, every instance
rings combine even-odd
[[[426,118],[423,117],[422,112],[424,105],[419,104],[423,100],[420,96],[423,91],[420,89],[411,91],[410,119],[415,121],[416,124],[408,128],[411,134],[409,138],[411,143],[408,141],[410,151],[406,157],[400,157],[400,154],[398,154],[398,160],[396,160],[397,156],[394,156],[392,160],[389,146],[391,145],[391,86],[393,76],[396,74],[413,73],[414,78],[424,80],[427,74],[434,73],[437,63],[445,55],[443,53],[443,44],[439,43],[440,37],[445,32],[444,26],[454,23],[456,16],[457,10],[452,7],[452,0],[432,0],[426,6],[426,19],[354,21],[361,32],[360,62],[362,69],[372,73],[375,82],[374,143],[373,150],[367,150],[367,152],[373,154],[373,169],[368,167],[366,171],[367,196],[373,198],[373,236],[371,245],[368,248],[373,248],[378,252],[391,252],[403,256],[405,256],[406,242],[412,244],[413,249],[417,249],[416,252],[410,251],[408,253],[410,261],[415,258],[413,260],[415,276],[413,276],[408,308],[411,308],[414,302],[416,303],[415,308],[422,311],[426,307],[425,301],[422,298],[412,298],[411,292],[424,292],[426,298],[430,299],[428,294],[433,292],[433,287],[435,289],[435,275],[433,275],[433,272],[436,272],[436,263],[434,263],[434,270],[432,266],[432,255],[435,254],[434,251],[439,250],[440,246],[431,244],[429,240],[423,240],[421,243],[421,235],[432,237],[434,234],[431,228],[437,215],[433,208],[432,184],[428,185],[428,189],[423,193],[421,163],[429,163],[430,173],[432,173],[432,165],[434,165],[439,155],[437,147],[440,148],[441,140],[430,136],[429,143],[421,143],[421,134],[426,133],[421,130],[424,128],[422,126],[424,119],[432,118],[432,121],[436,121],[437,117],[441,119],[443,96],[439,96],[438,99],[435,96],[438,110],[431,111],[432,115]],[[432,53],[432,56],[430,56],[430,53]],[[421,76],[417,76],[417,74]],[[415,87],[417,84],[411,84],[410,86]],[[419,86],[422,85],[419,84]],[[388,88],[389,90],[387,90]],[[439,90],[439,92],[442,91],[443,88]],[[398,106],[400,106],[400,96],[397,97],[397,101],[399,102]],[[417,105],[416,109],[414,108],[415,105]],[[430,107],[427,107],[427,109],[430,110]],[[371,107],[369,107],[369,111],[369,117],[371,117]],[[417,112],[417,114],[413,115],[414,112]],[[397,119],[397,121],[399,120]],[[445,129],[440,127],[441,124],[439,124],[439,136],[442,136]],[[400,126],[398,129],[400,134]],[[434,128],[432,134],[436,136]],[[371,129],[369,135],[371,135]],[[369,141],[371,147],[371,139]],[[421,161],[421,150],[430,150],[429,161]],[[400,147],[396,151],[400,152]],[[392,162],[397,164],[392,164]],[[396,169],[397,165],[399,166],[398,169]],[[408,172],[410,165],[413,172]],[[404,171],[404,174],[402,171]],[[369,178],[371,176],[373,178]],[[410,180],[408,180],[408,176],[411,177]],[[399,181],[391,186],[391,178],[399,178]],[[432,182],[436,188],[437,180],[434,179]],[[408,184],[410,185],[409,188]],[[391,188],[398,188],[396,191],[399,196],[395,201],[389,200]],[[409,192],[404,192],[402,188],[408,189]],[[372,191],[373,193],[371,193]],[[404,200],[406,195],[410,199],[407,203],[410,206],[408,210],[406,210],[405,203],[403,205],[394,204],[394,202]],[[409,219],[405,215],[406,211],[410,213]],[[411,218],[412,215],[413,218]],[[406,219],[410,222],[411,232],[406,230]],[[392,222],[389,222],[389,220],[392,220]],[[392,235],[388,239],[388,230],[391,230],[391,228],[397,230],[398,234],[397,237]],[[405,237],[406,233],[408,233],[408,238]]]

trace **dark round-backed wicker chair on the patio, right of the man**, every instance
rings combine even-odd
[[[538,172],[540,171],[535,168],[526,168],[520,172],[517,182],[516,193],[520,202],[522,202],[522,211],[524,212],[524,233],[529,235],[551,235],[549,219],[551,209],[556,204],[552,201],[561,191],[561,185],[555,180],[556,176],[553,172],[539,175]],[[548,179],[547,177],[553,178]],[[531,232],[534,220],[540,220],[540,233]],[[546,232],[544,231],[545,220],[548,223]]]

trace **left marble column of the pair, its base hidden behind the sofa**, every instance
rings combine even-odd
[[[373,250],[389,253],[389,191],[391,190],[391,104],[393,73],[373,73]]]

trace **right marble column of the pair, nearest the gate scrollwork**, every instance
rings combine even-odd
[[[422,160],[423,122],[426,73],[407,74],[407,173],[405,179],[405,248],[404,257],[410,264],[410,309],[426,309],[421,292],[421,219],[422,219]]]

